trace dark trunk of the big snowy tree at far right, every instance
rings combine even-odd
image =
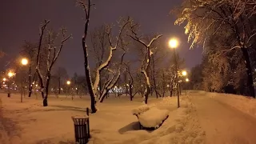
[[[250,97],[255,98],[254,79],[252,75],[252,69],[250,66],[250,57],[249,57],[248,49],[242,47],[241,50],[246,62],[247,86],[249,87]]]

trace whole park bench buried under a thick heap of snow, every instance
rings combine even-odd
[[[156,107],[147,105],[139,106],[132,110],[132,113],[138,118],[139,128],[158,129],[162,123],[168,118],[169,110],[160,110]]]

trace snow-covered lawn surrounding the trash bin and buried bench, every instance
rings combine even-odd
[[[90,98],[60,97],[49,98],[49,106],[42,106],[42,99],[24,98],[20,95],[0,94],[2,114],[7,142],[18,144],[74,143],[75,115],[85,115],[90,107]],[[90,114],[89,143],[203,143],[204,132],[194,119],[194,109],[188,98],[181,98],[181,108],[177,109],[177,98],[149,98],[150,106],[169,110],[169,118],[158,130],[138,130],[138,119],[131,110],[142,106],[142,97],[136,96],[133,102],[129,97],[107,98],[98,104],[98,112]],[[1,122],[1,121],[0,121]],[[0,123],[1,127],[1,123]]]

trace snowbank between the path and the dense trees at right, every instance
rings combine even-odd
[[[207,93],[207,95],[256,118],[256,99],[254,98],[235,94]]]

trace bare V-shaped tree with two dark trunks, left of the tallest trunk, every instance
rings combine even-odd
[[[52,67],[54,66],[54,63],[58,59],[59,54],[62,51],[62,48],[65,44],[65,42],[71,38],[71,34],[66,36],[66,29],[62,28],[61,30],[61,44],[59,46],[56,46],[55,41],[57,39],[57,35],[55,35],[51,30],[48,31],[46,35],[46,44],[47,44],[47,60],[46,60],[46,75],[42,75],[42,70],[40,70],[40,57],[42,56],[42,40],[44,38],[44,33],[46,30],[46,26],[49,24],[50,21],[45,21],[40,30],[40,38],[39,38],[39,45],[38,45],[38,53],[37,53],[37,66],[36,71],[38,74],[40,86],[41,86],[41,93],[43,98],[43,106],[48,106],[47,98],[48,98],[48,92],[49,92],[49,82],[50,82],[50,71],[52,70]],[[58,48],[57,48],[58,47]]]

